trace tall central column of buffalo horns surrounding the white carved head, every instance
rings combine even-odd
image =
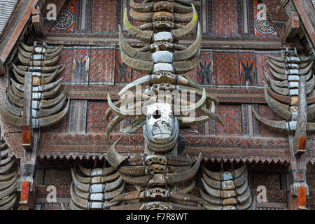
[[[165,140],[153,141],[144,133],[146,144],[144,156],[128,158],[119,155],[115,147],[121,138],[111,146],[107,152],[109,164],[117,169],[126,183],[139,189],[137,192],[125,193],[111,200],[128,203],[130,200],[138,200],[139,204],[126,204],[111,209],[190,209],[187,203],[197,204],[197,209],[204,209],[201,206],[205,203],[204,200],[187,194],[195,187],[194,179],[202,160],[201,154],[198,158],[185,158],[176,155],[174,150],[179,139],[179,128],[196,133],[190,126],[205,123],[209,119],[222,123],[215,114],[218,99],[207,94],[200,84],[183,75],[194,69],[200,59],[202,30],[195,5],[200,6],[200,2],[130,1],[130,16],[134,20],[144,22],[139,27],[134,27],[128,20],[127,10],[124,12],[123,22],[127,33],[146,43],[146,46],[141,49],[133,48],[127,43],[119,27],[121,58],[130,68],[148,75],[126,85],[118,94],[120,97],[118,102],[113,103],[108,96],[109,110],[106,112],[106,118],[109,119],[113,113],[116,114],[116,118],[109,124],[106,135],[109,137],[111,130],[125,118],[131,119],[132,123],[122,130],[123,133],[134,132],[141,127],[150,130],[147,127],[151,114],[148,115],[144,111],[152,104],[158,106],[171,104],[170,116],[174,120],[175,129],[172,131],[173,136],[166,143]],[[182,25],[184,22],[187,24]],[[190,46],[179,44],[179,40],[193,34],[196,29],[197,36]],[[141,92],[135,91],[139,90],[139,87]],[[161,91],[167,92],[165,98],[169,97],[171,100],[154,97]],[[197,102],[188,102],[179,99],[176,95],[178,93],[187,93],[190,97],[197,95],[200,99]],[[137,104],[132,106],[127,104],[122,109],[122,105],[126,105],[125,102],[130,99],[136,100]],[[176,101],[181,104],[179,108],[175,106]],[[137,110],[138,104],[142,106],[140,112]],[[185,119],[190,112],[196,112],[196,115],[199,112],[202,116],[198,114],[197,118]],[[166,125],[163,127],[167,129]]]

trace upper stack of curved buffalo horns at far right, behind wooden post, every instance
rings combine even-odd
[[[269,86],[265,83],[265,99],[270,108],[284,120],[267,120],[253,111],[261,123],[276,129],[295,132],[297,130],[298,103],[300,100],[299,84],[303,76],[306,80],[307,121],[315,118],[315,104],[312,93],[315,87],[315,76],[312,71],[314,61],[311,57],[291,54],[288,51],[283,57],[269,56],[269,69],[275,79],[265,74]],[[314,131],[314,124],[307,123],[308,131]]]

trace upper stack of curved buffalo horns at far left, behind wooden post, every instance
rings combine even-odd
[[[59,59],[62,45],[50,49],[44,43],[28,46],[20,43],[18,59],[20,64],[12,63],[8,87],[4,94],[7,111],[0,108],[0,114],[8,123],[22,126],[22,113],[25,90],[25,76],[32,77],[31,116],[33,128],[48,127],[61,120],[69,110],[66,102],[66,88],[62,86],[62,78],[55,80],[64,70],[55,65]]]

